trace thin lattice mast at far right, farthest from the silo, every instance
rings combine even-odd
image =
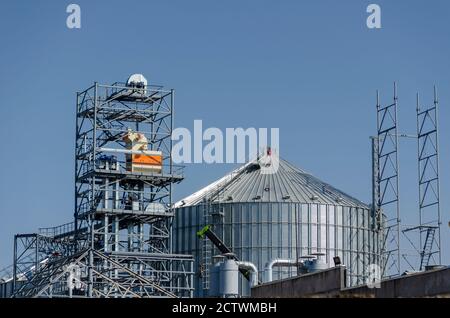
[[[413,270],[441,264],[441,212],[439,184],[438,97],[434,87],[432,106],[423,107],[417,94],[417,162],[419,225],[403,232],[414,247],[415,257],[405,258]]]

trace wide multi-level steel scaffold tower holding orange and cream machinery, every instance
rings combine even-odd
[[[183,180],[171,157],[173,104],[161,86],[95,83],[77,94],[75,220],[16,248],[17,270],[35,255],[16,297],[192,296],[193,258],[171,254],[172,185]]]

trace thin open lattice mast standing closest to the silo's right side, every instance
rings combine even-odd
[[[375,211],[381,229],[380,253],[383,277],[400,274],[400,199],[397,128],[397,85],[391,104],[382,106],[377,91],[377,189]]]

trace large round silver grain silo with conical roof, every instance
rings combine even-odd
[[[283,159],[274,173],[264,173],[264,158],[176,203],[174,251],[195,257],[195,295],[208,295],[210,267],[219,254],[196,235],[206,224],[239,259],[257,266],[260,281],[274,259],[323,255],[328,266],[339,256],[349,285],[364,283],[369,264],[379,261],[371,208]],[[275,280],[296,273],[297,267],[280,266],[272,275]],[[241,295],[248,295],[248,284],[240,280]]]

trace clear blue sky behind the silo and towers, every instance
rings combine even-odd
[[[72,220],[75,93],[131,73],[176,89],[176,125],[279,127],[281,155],[371,199],[375,90],[399,85],[402,132],[415,93],[441,101],[444,261],[450,263],[450,2],[69,1],[0,4],[0,267],[13,235]],[[369,30],[366,7],[382,8]],[[401,144],[402,214],[417,216],[416,144]],[[190,165],[176,198],[232,169]]]

